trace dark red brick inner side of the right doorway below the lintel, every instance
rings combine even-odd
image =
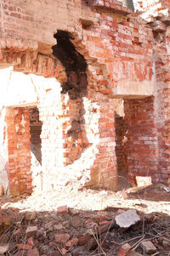
[[[127,164],[129,174],[160,178],[154,98],[125,100]]]

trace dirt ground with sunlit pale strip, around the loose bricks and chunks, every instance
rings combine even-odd
[[[2,197],[3,217],[10,219],[8,230],[3,230],[0,245],[10,244],[4,255],[31,255],[20,250],[16,244],[26,244],[26,227],[37,226],[46,236],[37,236],[36,247],[39,255],[128,255],[118,254],[123,244],[128,243],[131,250],[148,255],[140,247],[140,242],[150,241],[156,247],[152,255],[170,255],[170,190],[165,185],[149,185],[131,188],[120,193],[113,191],[94,191],[80,188],[75,184],[59,186],[56,191],[48,191],[22,196],[20,198]],[[57,208],[66,205],[68,213],[59,214]],[[128,229],[111,224],[120,210],[135,209],[140,221]],[[26,221],[26,213],[35,213],[36,217]],[[77,216],[75,220],[75,216]],[[74,221],[73,221],[73,220]],[[111,220],[112,219],[112,220]],[[72,223],[73,221],[73,223]],[[74,223],[76,221],[76,224]],[[89,234],[94,225],[108,225],[101,234]],[[111,226],[111,225],[112,226]],[[60,226],[60,229],[59,228]],[[56,226],[56,229],[54,229]],[[53,228],[52,228],[53,227]],[[20,236],[14,231],[21,230]],[[55,234],[68,233],[79,242],[71,247],[54,242]],[[80,242],[81,237],[89,238]],[[78,241],[78,240],[77,240]],[[89,241],[92,241],[91,244]],[[101,246],[100,246],[101,244]],[[65,249],[65,251],[62,251]],[[18,253],[18,254],[17,254]],[[22,254],[20,254],[22,253]],[[130,254],[129,254],[130,255]],[[132,254],[138,256],[138,254]],[[33,256],[33,254],[32,254]]]

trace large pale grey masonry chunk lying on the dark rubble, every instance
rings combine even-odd
[[[119,225],[121,228],[129,228],[140,220],[138,213],[134,209],[117,215],[115,219],[116,225]]]

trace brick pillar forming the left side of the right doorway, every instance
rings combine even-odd
[[[94,166],[91,167],[91,184],[94,188],[116,190],[116,152],[114,100],[101,100],[99,105],[99,131]],[[96,138],[97,139],[97,138]]]

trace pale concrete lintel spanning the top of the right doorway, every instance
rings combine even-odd
[[[113,98],[141,99],[154,94],[154,82],[118,81],[113,88]]]

